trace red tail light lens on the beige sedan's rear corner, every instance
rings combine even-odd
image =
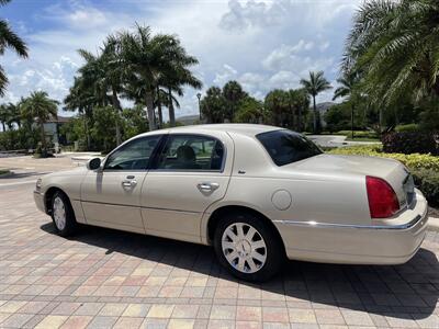
[[[399,211],[396,193],[385,180],[368,175],[365,185],[372,218],[389,218]]]

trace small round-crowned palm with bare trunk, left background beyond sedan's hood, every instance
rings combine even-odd
[[[47,155],[46,134],[44,124],[50,117],[57,117],[59,102],[48,98],[45,91],[34,91],[21,106],[23,116],[33,117],[41,128],[43,156]]]

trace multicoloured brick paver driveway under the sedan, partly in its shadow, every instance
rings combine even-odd
[[[252,285],[207,247],[92,227],[60,238],[32,190],[0,180],[0,327],[439,328],[438,234],[405,265],[289,262]]]

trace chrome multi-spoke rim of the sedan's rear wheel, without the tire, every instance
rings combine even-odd
[[[221,239],[223,254],[241,273],[256,273],[267,261],[267,245],[261,234],[247,223],[230,224]]]

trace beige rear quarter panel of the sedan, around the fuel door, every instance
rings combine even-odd
[[[235,163],[227,194],[212,205],[207,214],[223,206],[240,205],[273,222],[371,224],[363,175],[285,170],[277,167],[251,136],[232,134],[232,137]],[[273,195],[278,191],[286,192],[283,195],[290,194],[291,204],[286,208],[275,206]],[[203,222],[202,235],[205,238],[207,220]],[[290,243],[289,239],[284,243]]]

